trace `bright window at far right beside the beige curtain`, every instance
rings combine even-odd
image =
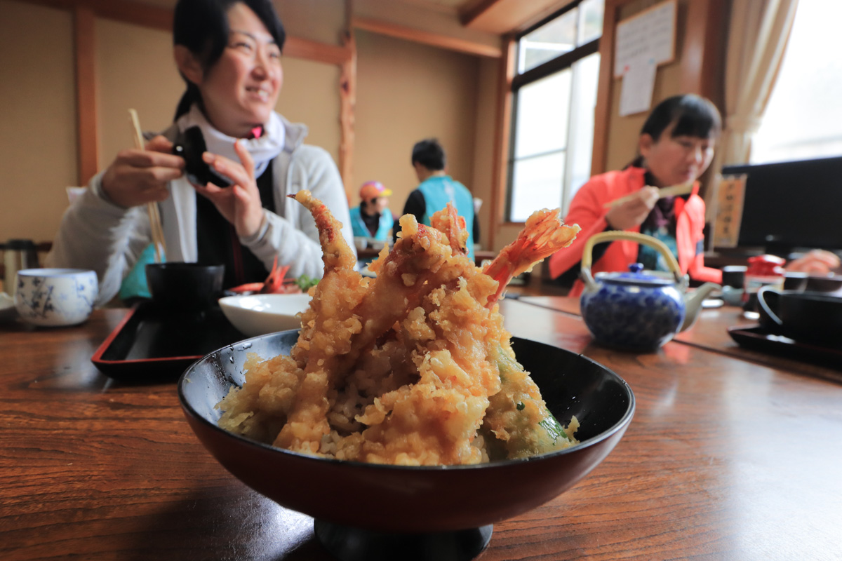
[[[842,3],[801,0],[751,163],[842,155]]]

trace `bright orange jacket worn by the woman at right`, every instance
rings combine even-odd
[[[641,167],[627,167],[620,172],[607,172],[591,177],[570,203],[570,210],[565,217],[566,224],[578,224],[582,228],[573,243],[550,257],[550,276],[559,277],[562,273],[582,261],[584,242],[594,234],[608,227],[605,203],[616,198],[634,193],[644,185],[646,170]],[[699,183],[693,186],[693,192],[685,201],[675,198],[675,245],[678,249],[681,273],[690,273],[690,278],[697,281],[722,283],[722,271],[705,267],[702,247],[705,227],[705,201],[697,194]],[[640,226],[629,229],[640,231]],[[600,259],[591,266],[591,273],[626,271],[628,266],[637,262],[637,243],[633,241],[612,241]],[[581,279],[573,284],[571,296],[582,294],[584,285]]]

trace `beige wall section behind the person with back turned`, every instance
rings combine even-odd
[[[473,189],[479,58],[365,31],[356,41],[355,183],[384,183],[392,213],[400,214],[418,185],[413,145],[435,137],[450,175]]]

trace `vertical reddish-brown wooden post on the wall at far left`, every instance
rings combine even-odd
[[[99,170],[95,25],[91,8],[73,8],[79,185],[87,185]]]

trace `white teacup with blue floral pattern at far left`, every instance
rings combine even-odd
[[[85,269],[24,269],[18,272],[14,305],[33,325],[77,325],[97,298],[97,273]]]

